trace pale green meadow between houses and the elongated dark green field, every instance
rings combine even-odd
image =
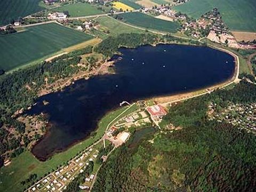
[[[99,17],[95,19],[99,22],[101,29],[109,30],[110,35],[116,36],[123,33],[144,33],[144,30],[133,28],[130,26],[124,25],[122,22],[110,17]]]

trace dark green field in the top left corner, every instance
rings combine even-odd
[[[0,0],[0,26],[10,23],[19,17],[43,10],[41,0]]]

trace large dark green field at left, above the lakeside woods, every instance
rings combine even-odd
[[[72,37],[72,38],[70,38]],[[28,27],[0,37],[0,68],[9,71],[48,57],[62,49],[88,41],[92,36],[57,23]]]

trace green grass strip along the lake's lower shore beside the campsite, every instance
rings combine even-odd
[[[95,141],[99,140],[104,134],[107,125],[112,122],[119,114],[121,114],[127,107],[118,108],[108,113],[99,122],[97,134],[94,138],[88,138],[68,150],[55,154],[46,162],[39,162],[29,151],[25,151],[17,158],[12,159],[12,163],[7,167],[0,169],[0,191],[17,192],[21,191],[23,187],[20,182],[29,177],[30,174],[37,174],[37,178],[42,177],[45,173],[51,172],[58,165],[69,161],[77,153],[91,146]],[[137,110],[137,105],[133,105],[130,109],[125,111],[119,118],[132,113]]]

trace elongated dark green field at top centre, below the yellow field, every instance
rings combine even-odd
[[[175,33],[179,27],[179,23],[177,22],[157,19],[140,12],[122,13],[120,16],[124,22],[130,23],[131,25],[167,33]]]

